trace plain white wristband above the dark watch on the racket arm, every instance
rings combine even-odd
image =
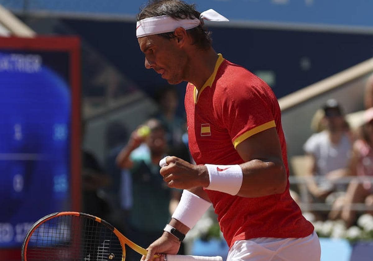
[[[172,218],[179,220],[191,229],[210,206],[211,203],[209,201],[184,189]]]

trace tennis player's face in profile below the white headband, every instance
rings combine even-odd
[[[169,84],[185,81],[186,54],[179,48],[177,39],[159,35],[138,38],[141,51],[145,54],[145,68],[159,73]]]

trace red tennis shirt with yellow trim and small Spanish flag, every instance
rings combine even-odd
[[[215,69],[198,92],[188,83],[185,94],[189,150],[197,164],[244,163],[235,147],[250,136],[275,127],[288,171],[281,112],[272,89],[245,68],[219,54]],[[285,192],[244,198],[206,189],[229,246],[250,238],[303,238],[314,228]]]

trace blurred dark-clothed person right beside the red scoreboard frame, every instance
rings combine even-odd
[[[95,156],[82,151],[82,211],[103,219],[110,215],[110,205],[102,190],[110,178],[103,171]]]

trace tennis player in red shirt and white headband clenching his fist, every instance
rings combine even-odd
[[[179,0],[149,2],[137,16],[145,67],[170,84],[188,82],[185,110],[189,150],[197,165],[165,157],[160,174],[184,189],[172,219],[142,260],[176,254],[211,203],[232,260],[320,260],[314,227],[289,193],[286,143],[278,101],[247,69],[217,54],[199,13]],[[163,256],[157,258],[163,260]]]

